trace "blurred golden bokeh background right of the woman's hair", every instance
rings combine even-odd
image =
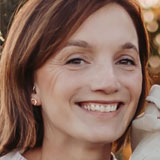
[[[160,84],[160,0],[138,0],[150,35],[149,73],[153,83]]]

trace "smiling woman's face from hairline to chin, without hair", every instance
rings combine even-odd
[[[118,4],[92,14],[35,74],[45,137],[113,142],[129,125],[142,89],[138,37]]]

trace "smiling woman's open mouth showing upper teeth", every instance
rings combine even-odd
[[[110,112],[116,112],[123,103],[122,102],[112,102],[112,103],[79,102],[77,104],[79,107],[87,111],[110,113]]]

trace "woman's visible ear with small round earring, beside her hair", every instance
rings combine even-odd
[[[33,90],[31,93],[31,104],[33,106],[41,106],[41,100],[40,100],[39,95],[37,94],[35,86],[33,86]]]

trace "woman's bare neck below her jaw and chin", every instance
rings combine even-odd
[[[56,138],[54,138],[56,137]],[[110,160],[111,143],[95,143],[69,136],[44,136],[41,148],[30,150],[28,160]]]

